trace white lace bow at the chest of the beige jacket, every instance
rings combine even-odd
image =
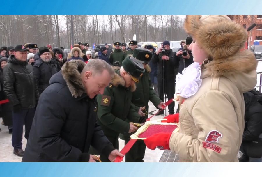
[[[176,76],[176,87],[178,88],[180,96],[189,98],[196,94],[202,82],[200,76],[201,68],[197,62],[185,68],[182,74],[178,73]]]

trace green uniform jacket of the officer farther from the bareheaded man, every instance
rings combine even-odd
[[[136,83],[137,89],[132,93],[132,103],[135,105],[135,110],[137,112],[139,111],[140,107],[144,106],[146,107],[146,111],[148,112],[149,101],[151,101],[156,108],[157,105],[162,102],[155,93],[154,89],[151,87],[151,79],[149,76],[151,68],[149,67],[149,65],[146,65],[145,69],[146,71],[139,79],[139,82]]]

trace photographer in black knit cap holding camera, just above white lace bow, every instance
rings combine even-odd
[[[186,44],[183,46],[183,50],[180,50],[175,55],[175,63],[179,65],[178,72],[182,74],[182,71],[191,65],[193,61],[193,56],[191,51],[188,49],[189,45],[193,42],[191,36],[187,37]]]

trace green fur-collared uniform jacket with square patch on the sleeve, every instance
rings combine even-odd
[[[115,75],[103,95],[97,96],[98,124],[106,136],[118,136],[129,131],[129,122],[137,122],[139,114],[131,104],[132,92],[136,86],[125,87],[119,68],[115,67]]]

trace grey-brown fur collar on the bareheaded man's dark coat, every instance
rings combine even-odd
[[[81,60],[71,60],[65,62],[61,68],[62,76],[73,97],[81,97],[85,92],[85,86],[81,80],[80,73],[86,63]]]

